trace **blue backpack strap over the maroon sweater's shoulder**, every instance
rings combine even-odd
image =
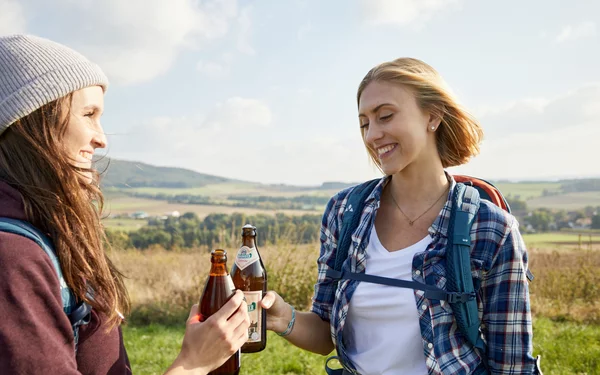
[[[54,252],[52,240],[50,240],[48,236],[30,223],[22,220],[9,219],[6,217],[0,217],[0,232],[13,233],[25,238],[29,238],[37,243],[50,257],[60,282],[60,296],[62,299],[63,311],[71,322],[71,327],[73,328],[73,337],[75,339],[75,352],[77,352],[77,344],[79,342],[79,327],[90,322],[92,307],[83,301],[78,303],[73,291],[67,285],[60,268],[60,263],[58,262],[58,258]]]

